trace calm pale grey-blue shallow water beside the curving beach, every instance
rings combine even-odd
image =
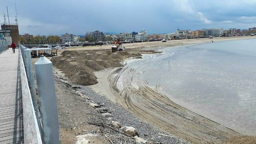
[[[127,63],[177,104],[256,135],[256,39],[161,49]]]

